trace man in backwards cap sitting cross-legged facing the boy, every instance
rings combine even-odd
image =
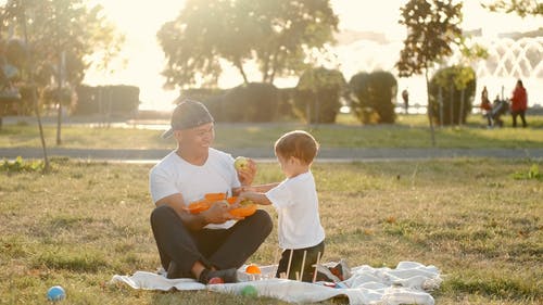
[[[187,206],[210,193],[232,195],[240,186],[250,186],[256,174],[254,162],[237,171],[231,155],[211,148],[214,122],[197,101],[184,101],[172,114],[177,150],[166,155],[149,175],[151,198],[156,208],[151,227],[162,266],[168,278],[195,278],[207,284],[212,278],[237,281],[237,269],[272,231],[272,218],[263,211],[238,218],[239,207],[214,202],[207,211],[191,214]]]

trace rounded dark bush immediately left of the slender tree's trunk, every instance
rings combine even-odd
[[[397,81],[391,73],[358,73],[349,81],[349,88],[354,96],[351,109],[363,124],[395,122]]]

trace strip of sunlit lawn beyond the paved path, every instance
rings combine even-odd
[[[510,118],[509,118],[510,119]],[[307,126],[296,123],[217,124],[215,147],[272,149],[286,131],[311,131],[327,148],[430,148],[430,131],[425,115],[400,115],[396,124],[361,126],[352,116],[340,115],[338,124]],[[472,115],[462,127],[435,128],[438,148],[541,148],[543,116],[529,116],[529,128],[484,128],[484,120]],[[507,126],[510,123],[506,119]],[[64,125],[63,148],[171,149],[173,140],[160,138],[161,130]],[[45,127],[46,143],[55,147],[56,127]],[[28,124],[7,125],[0,129],[0,148],[41,148],[39,131]]]

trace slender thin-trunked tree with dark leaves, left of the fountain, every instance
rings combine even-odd
[[[462,43],[462,3],[453,0],[409,0],[401,9],[400,24],[407,27],[407,38],[396,67],[400,77],[425,74],[430,105],[429,72],[435,63],[453,53],[452,45]],[[431,107],[428,106],[432,145],[435,145]]]

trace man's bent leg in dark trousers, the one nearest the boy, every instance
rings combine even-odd
[[[210,253],[209,262],[217,269],[239,268],[272,232],[273,221],[267,212],[256,213],[226,230],[223,242]],[[217,241],[214,241],[217,244]],[[202,245],[210,247],[212,245]]]

